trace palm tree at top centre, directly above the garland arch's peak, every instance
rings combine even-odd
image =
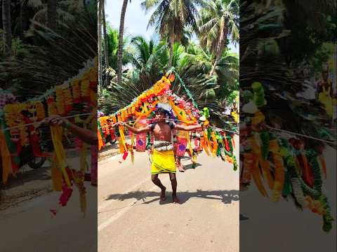
[[[201,0],[145,0],[141,6],[145,10],[156,7],[147,27],[154,26],[161,39],[169,41],[169,68],[173,62],[173,45],[180,42],[186,28],[197,31],[197,6]]]

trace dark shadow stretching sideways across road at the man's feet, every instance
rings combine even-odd
[[[146,201],[147,197],[156,197],[153,200]],[[239,201],[239,190],[197,190],[197,192],[179,192],[178,197],[180,204],[184,204],[187,200],[192,197],[201,197],[209,200],[221,200],[223,204],[230,204],[232,201]],[[143,200],[142,204],[150,204],[152,202],[159,201],[159,193],[149,191],[134,191],[126,194],[113,194],[107,197],[106,200],[128,200],[136,199],[137,201]],[[159,204],[169,204],[171,203],[171,194],[166,193],[166,200],[159,201]]]

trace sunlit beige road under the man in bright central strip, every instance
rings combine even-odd
[[[239,251],[239,172],[232,165],[199,155],[196,169],[177,174],[177,205],[168,174],[159,175],[169,196],[159,202],[147,153],[136,153],[135,165],[119,160],[99,163],[99,252]]]

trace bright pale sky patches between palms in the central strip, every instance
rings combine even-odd
[[[126,8],[124,32],[131,35],[142,35],[145,38],[150,39],[156,37],[154,29],[149,27],[147,29],[147,22],[150,19],[151,13],[145,14],[145,11],[140,8],[142,0],[132,0],[128,2]],[[123,0],[107,0],[105,5],[105,15],[107,22],[114,28],[119,28],[119,20],[121,15],[121,5]],[[239,45],[236,47],[230,45],[230,49],[233,52],[239,53]]]

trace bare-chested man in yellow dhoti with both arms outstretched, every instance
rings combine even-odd
[[[176,162],[173,153],[173,132],[172,130],[192,131],[201,129],[202,125],[176,125],[175,123],[166,123],[166,111],[164,109],[157,109],[156,111],[157,123],[152,123],[143,128],[135,128],[121,123],[135,134],[150,132],[154,133],[154,150],[152,154],[151,165],[151,179],[152,182],[161,189],[160,200],[166,200],[166,187],[163,186],[158,178],[158,174],[168,173],[172,185],[173,203],[179,204],[177,197],[177,179],[176,179]]]

